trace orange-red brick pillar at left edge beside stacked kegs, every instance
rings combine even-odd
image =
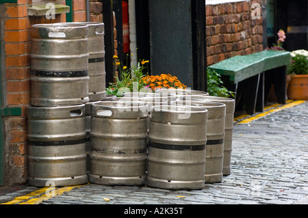
[[[2,117],[5,129],[5,184],[21,183],[27,180],[27,118],[25,109],[30,103],[30,22],[27,3],[1,5],[1,46],[4,50],[1,63],[4,97],[3,107],[21,107],[22,115]],[[2,37],[3,36],[3,37]]]

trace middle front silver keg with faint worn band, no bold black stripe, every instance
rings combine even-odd
[[[143,185],[147,105],[102,101],[91,106],[89,182]]]

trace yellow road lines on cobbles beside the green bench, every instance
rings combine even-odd
[[[241,120],[241,121],[238,122],[237,124],[248,124],[248,123],[252,122],[253,120],[257,120],[257,119],[259,119],[259,118],[262,118],[262,117],[264,117],[265,115],[268,115],[268,114],[270,114],[270,113],[274,113],[274,112],[277,112],[277,111],[281,111],[281,110],[283,110],[283,109],[286,109],[286,108],[288,108],[288,107],[294,107],[294,106],[296,106],[296,105],[303,104],[303,103],[305,103],[305,101],[306,101],[306,100],[294,100],[294,101],[293,101],[293,100],[288,100],[288,101],[287,101],[287,104],[286,104],[286,105],[282,105],[281,107],[279,107],[279,104],[270,105],[270,106],[268,106],[268,107],[264,107],[264,110],[266,110],[266,111],[264,111],[264,112],[262,112],[262,113],[257,113],[257,114],[255,114],[255,115],[252,115],[251,117],[249,117],[248,114],[246,114],[246,115],[240,115],[240,116],[238,116],[237,118],[235,118],[234,121],[236,122],[236,121],[238,121],[238,120],[241,120],[241,119],[245,118],[245,116],[246,116],[246,117],[248,117],[248,118],[246,118],[246,119],[244,119],[244,120]]]

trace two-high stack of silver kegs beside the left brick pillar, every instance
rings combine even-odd
[[[80,185],[86,172],[86,105],[103,100],[103,23],[31,26],[29,185]]]

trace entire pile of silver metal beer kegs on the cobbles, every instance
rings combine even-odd
[[[230,174],[233,100],[197,90],[107,99],[103,47],[103,23],[31,27],[29,185],[202,189]]]

